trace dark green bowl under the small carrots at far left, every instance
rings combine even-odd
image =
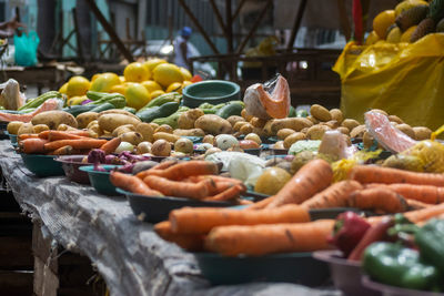
[[[24,166],[39,177],[64,175],[62,164],[57,162],[53,155],[20,153],[20,156]]]

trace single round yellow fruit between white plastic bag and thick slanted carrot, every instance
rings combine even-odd
[[[262,175],[258,178],[254,191],[262,194],[274,195],[290,178],[291,175],[285,170],[276,166],[269,167],[264,170]]]

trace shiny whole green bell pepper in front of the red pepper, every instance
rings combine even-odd
[[[374,243],[363,256],[363,269],[377,282],[412,289],[434,289],[438,269],[425,263],[415,249],[394,243]]]

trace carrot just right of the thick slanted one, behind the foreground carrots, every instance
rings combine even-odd
[[[349,204],[350,194],[361,188],[362,185],[356,181],[341,181],[315,194],[301,205],[307,210],[344,207]]]

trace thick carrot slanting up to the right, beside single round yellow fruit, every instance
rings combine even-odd
[[[333,171],[324,160],[314,160],[305,164],[280,190],[266,206],[275,207],[284,204],[301,204],[317,192],[326,188],[333,178]]]

